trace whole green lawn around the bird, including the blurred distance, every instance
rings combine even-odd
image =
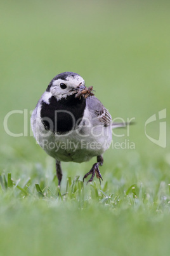
[[[169,255],[169,11],[169,1],[1,1],[0,255]],[[55,160],[32,136],[30,113],[63,71],[93,86],[116,122],[135,121],[114,130],[101,185],[82,182],[96,159],[63,162],[58,190]]]

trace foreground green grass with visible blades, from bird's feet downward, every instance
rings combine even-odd
[[[166,182],[117,180],[112,190],[109,181],[100,187],[69,176],[60,193],[52,177],[20,187],[11,174],[0,176],[2,255],[168,255]]]

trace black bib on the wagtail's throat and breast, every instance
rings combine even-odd
[[[49,104],[42,101],[41,118],[42,124],[46,130],[52,132],[69,132],[80,124],[84,109],[86,107],[86,99],[76,99],[75,95],[57,101],[52,96]]]

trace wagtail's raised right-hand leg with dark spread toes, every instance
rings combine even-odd
[[[101,177],[101,173],[100,173],[100,171],[98,169],[98,166],[102,166],[102,165],[103,165],[103,157],[101,157],[101,155],[98,155],[97,162],[95,164],[93,164],[93,167],[91,168],[91,170],[84,175],[83,182],[84,182],[84,179],[89,176],[89,174],[91,174],[91,178],[88,180],[88,182],[93,181],[93,178],[95,177],[95,173],[96,173],[96,177],[99,180],[100,179],[103,180],[103,178]]]

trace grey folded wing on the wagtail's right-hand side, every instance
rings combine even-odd
[[[88,97],[86,100],[88,108],[91,111],[92,118],[97,118],[105,127],[112,124],[112,117],[108,110],[103,106],[95,96]]]

